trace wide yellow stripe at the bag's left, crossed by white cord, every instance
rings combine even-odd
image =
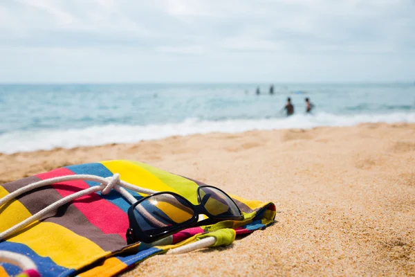
[[[0,186],[0,197],[7,194],[7,190]],[[1,231],[5,231],[31,215],[17,200],[10,205],[2,206],[0,211]],[[39,256],[48,256],[57,265],[75,269],[89,265],[110,253],[102,250],[91,240],[52,222],[36,221],[30,225],[30,228],[26,227],[8,241],[25,244]]]

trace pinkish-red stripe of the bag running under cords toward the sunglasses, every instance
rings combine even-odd
[[[57,168],[36,176],[40,179],[49,179],[66,175],[75,174],[67,168]],[[66,186],[59,186],[59,184],[66,184]],[[53,184],[52,186],[62,197],[66,197],[85,188],[90,188],[85,181],[66,181],[64,183]],[[102,233],[116,233],[126,240],[125,232],[129,226],[128,216],[118,206],[108,202],[96,193],[75,199],[73,206],[83,213],[91,224],[101,229]]]

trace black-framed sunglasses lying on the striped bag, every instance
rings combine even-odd
[[[199,205],[172,192],[154,193],[140,199],[128,209],[127,243],[151,243],[194,226],[214,224],[221,220],[243,220],[241,210],[223,190],[199,186]],[[199,220],[199,215],[208,219]]]

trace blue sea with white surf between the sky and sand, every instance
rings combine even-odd
[[[260,94],[256,89],[259,87]],[[0,152],[168,136],[415,123],[415,84],[0,84]],[[282,108],[290,97],[295,114]],[[305,98],[315,108],[306,114]]]

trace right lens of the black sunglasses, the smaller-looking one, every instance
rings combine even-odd
[[[211,215],[217,217],[239,217],[241,212],[236,204],[221,190],[212,187],[199,189],[201,204]]]

